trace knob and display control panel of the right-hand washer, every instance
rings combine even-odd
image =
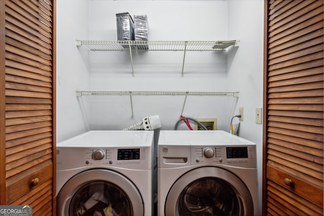
[[[256,164],[255,145],[191,146],[191,164],[219,163],[231,166],[250,167]]]

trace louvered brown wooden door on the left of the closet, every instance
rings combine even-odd
[[[0,10],[0,204],[55,215],[55,1]]]

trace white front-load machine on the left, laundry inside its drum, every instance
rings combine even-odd
[[[152,215],[153,133],[89,131],[58,143],[57,215]]]

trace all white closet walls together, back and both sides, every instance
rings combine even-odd
[[[262,125],[255,108],[262,107],[263,1],[89,1],[57,0],[57,141],[89,129],[119,130],[147,115],[158,114],[162,129],[173,129],[184,97],[75,97],[92,91],[239,91],[239,98],[187,97],[184,116],[217,118],[218,129],[244,107],[239,136],[257,144],[259,200],[262,185]],[[239,39],[226,52],[88,52],[75,39],[115,40],[116,13],[148,17],[149,40]],[[89,59],[88,59],[89,58]],[[89,61],[88,61],[89,60]],[[236,119],[235,119],[236,120]],[[187,129],[184,124],[178,129]],[[261,202],[259,203],[261,213]]]

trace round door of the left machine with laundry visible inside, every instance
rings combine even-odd
[[[143,214],[143,200],[136,186],[109,169],[90,169],[75,175],[57,196],[57,216]]]

